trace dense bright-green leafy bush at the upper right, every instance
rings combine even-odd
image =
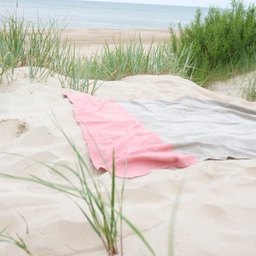
[[[256,67],[256,7],[236,0],[230,5],[230,9],[210,7],[204,19],[197,9],[189,25],[178,25],[179,35],[170,27],[172,50],[177,55],[192,51],[190,73],[195,82],[203,84]]]

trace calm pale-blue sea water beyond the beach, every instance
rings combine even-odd
[[[17,4],[18,3],[18,6]],[[44,23],[49,18],[67,28],[167,29],[170,24],[188,24],[195,7],[92,2],[84,0],[0,0],[0,15],[17,12],[26,20]],[[207,14],[206,8],[201,8]]]

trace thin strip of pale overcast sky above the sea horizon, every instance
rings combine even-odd
[[[155,3],[155,4],[170,4],[170,5],[186,5],[197,7],[209,7],[214,5],[217,7],[230,6],[230,0],[91,0],[101,2],[119,2],[119,3]],[[256,0],[244,0],[243,3],[256,3]]]

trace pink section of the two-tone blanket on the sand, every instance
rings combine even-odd
[[[112,171],[113,152],[117,177],[139,177],[154,169],[182,168],[197,161],[193,155],[172,150],[170,143],[163,143],[118,102],[85,93],[64,96],[73,103],[90,159],[98,170]]]

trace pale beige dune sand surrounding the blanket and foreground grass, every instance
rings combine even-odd
[[[73,38],[82,37],[80,32],[69,33]],[[98,37],[97,31],[84,33],[86,38],[81,41],[86,41],[91,49],[102,46],[103,36]],[[99,33],[102,35],[104,31]],[[161,39],[167,36],[165,32],[160,35]],[[109,32],[105,36],[108,37]],[[80,44],[81,47],[85,45]],[[61,89],[59,80],[49,78],[31,82],[27,74],[26,67],[18,68],[13,82],[0,85],[1,172],[20,176],[32,174],[58,182],[53,172],[35,160],[76,165],[72,149],[53,122],[53,113],[73,138],[88,166],[93,168],[73,116],[73,106],[62,96],[65,90]],[[196,96],[256,109],[255,102],[225,95],[224,91],[203,89],[172,75],[102,81],[96,96],[131,100]],[[99,178],[107,187],[110,185],[107,172]],[[119,191],[122,183],[122,179],[117,179]],[[255,185],[255,159],[208,160],[183,169],[154,170],[147,176],[125,180],[124,215],[143,232],[157,256],[171,255],[168,254],[170,247],[178,256],[255,255]],[[79,208],[60,192],[36,183],[1,178],[0,207],[0,230],[9,227],[9,234],[18,233],[35,256],[107,255]],[[123,230],[125,255],[150,255],[126,225]],[[13,244],[0,242],[0,255],[26,253]]]

